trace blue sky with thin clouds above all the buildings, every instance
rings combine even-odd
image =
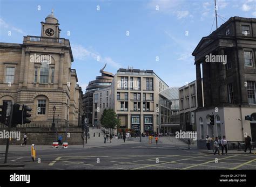
[[[256,17],[256,0],[217,0],[217,5],[223,18],[218,25],[232,16]],[[0,42],[22,43],[24,35],[41,35],[40,22],[52,8],[60,37],[70,40],[72,68],[83,91],[104,63],[112,73],[128,66],[152,69],[169,87],[181,87],[196,79],[191,53],[215,30],[214,0],[0,0]]]

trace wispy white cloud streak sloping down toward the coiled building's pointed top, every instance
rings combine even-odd
[[[78,44],[72,45],[72,52],[73,52],[75,59],[77,59],[77,60],[93,59],[98,62],[107,63],[114,68],[121,67],[121,64],[113,61],[113,59],[111,59],[111,57],[109,57],[109,56],[103,57],[98,52],[93,52],[93,50],[91,48],[86,49],[82,45],[78,45]]]

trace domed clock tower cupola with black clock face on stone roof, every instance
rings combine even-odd
[[[60,29],[58,19],[53,15],[53,9],[51,14],[45,18],[45,22],[41,22],[42,30],[41,37],[59,38]]]

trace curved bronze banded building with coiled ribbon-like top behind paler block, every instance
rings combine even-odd
[[[99,73],[102,74],[101,76],[97,76],[96,80],[89,82],[83,95],[83,111],[85,113],[85,118],[87,117],[88,112],[89,124],[92,124],[93,93],[96,90],[100,90],[111,85],[114,77],[114,74],[104,71],[105,67],[106,64],[99,71]]]

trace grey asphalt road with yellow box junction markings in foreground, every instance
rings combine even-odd
[[[255,154],[213,155],[186,145],[148,143],[37,150],[36,162],[28,151],[11,152],[8,162],[14,166],[0,169],[256,169]]]

